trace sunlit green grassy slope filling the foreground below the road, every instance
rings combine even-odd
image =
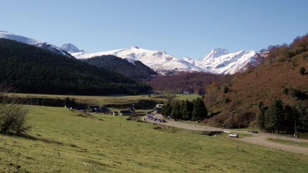
[[[29,133],[0,135],[0,170],[30,172],[304,172],[308,156],[202,136],[126,117],[73,116],[64,108],[31,106]],[[54,142],[52,142],[54,141]],[[57,144],[60,142],[63,144]],[[72,147],[71,145],[76,145]],[[239,146],[240,151],[237,150]],[[242,151],[244,149],[244,151]],[[86,163],[84,165],[83,163]]]

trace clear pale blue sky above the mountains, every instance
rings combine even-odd
[[[259,51],[308,32],[308,1],[0,0],[0,30],[86,52],[138,46],[176,57]]]

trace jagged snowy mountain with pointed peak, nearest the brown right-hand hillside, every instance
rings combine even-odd
[[[249,65],[256,66],[262,61],[263,58],[254,51],[229,53],[226,49],[217,48],[203,60],[195,61],[195,64],[202,69],[210,69],[214,73],[234,74],[245,71]]]

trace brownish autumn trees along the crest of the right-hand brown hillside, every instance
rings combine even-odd
[[[266,60],[270,64],[273,62],[288,62],[296,55],[305,59],[308,57],[308,52],[306,51],[308,51],[308,34],[296,37],[290,45],[271,46]]]

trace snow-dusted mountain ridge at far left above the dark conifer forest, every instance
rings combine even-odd
[[[15,40],[15,41],[23,42],[23,43],[28,44],[28,45],[32,45],[32,46],[36,46],[38,48],[49,50],[49,51],[56,53],[56,54],[59,54],[59,55],[65,55],[65,56],[73,58],[67,52],[62,51],[60,48],[58,48],[58,47],[56,47],[52,44],[49,44],[48,42],[35,40],[35,39],[24,37],[24,36],[21,36],[21,35],[15,35],[13,33],[9,33],[9,32],[6,32],[6,31],[0,31],[0,38],[7,38],[7,39],[12,39],[12,40]]]

